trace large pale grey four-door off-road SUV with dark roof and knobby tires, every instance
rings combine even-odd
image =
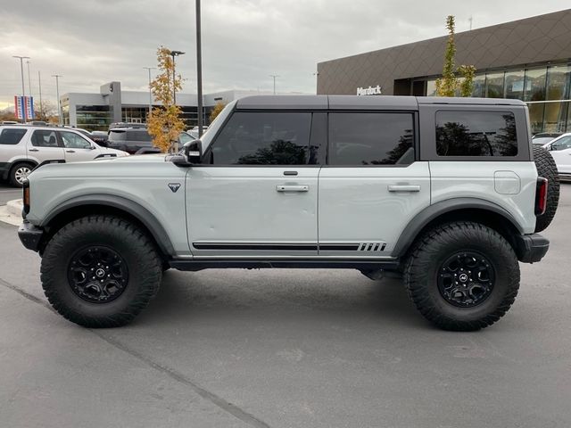
[[[548,251],[559,182],[517,100],[253,96],[184,155],[46,165],[23,194],[21,241],[80,325],[127,324],[167,268],[352,268],[476,330]]]

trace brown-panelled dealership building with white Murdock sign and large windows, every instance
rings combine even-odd
[[[318,64],[318,94],[434,95],[447,36]],[[571,132],[571,9],[457,33],[473,96],[517,98],[538,132]]]

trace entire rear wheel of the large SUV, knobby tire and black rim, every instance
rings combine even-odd
[[[473,331],[508,311],[519,289],[519,265],[495,230],[454,222],[434,227],[413,244],[404,279],[426,319],[445,330]]]

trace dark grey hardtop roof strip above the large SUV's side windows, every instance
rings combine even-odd
[[[502,98],[458,98],[401,95],[252,95],[240,98],[236,110],[418,110],[419,104],[525,105]]]

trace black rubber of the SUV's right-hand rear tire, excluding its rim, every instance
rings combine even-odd
[[[488,297],[470,308],[445,300],[438,287],[444,260],[462,251],[489,260],[495,281]],[[413,245],[404,282],[418,311],[444,330],[474,331],[492,325],[509,309],[519,289],[519,265],[511,245],[495,230],[473,222],[453,222],[428,230]]]

